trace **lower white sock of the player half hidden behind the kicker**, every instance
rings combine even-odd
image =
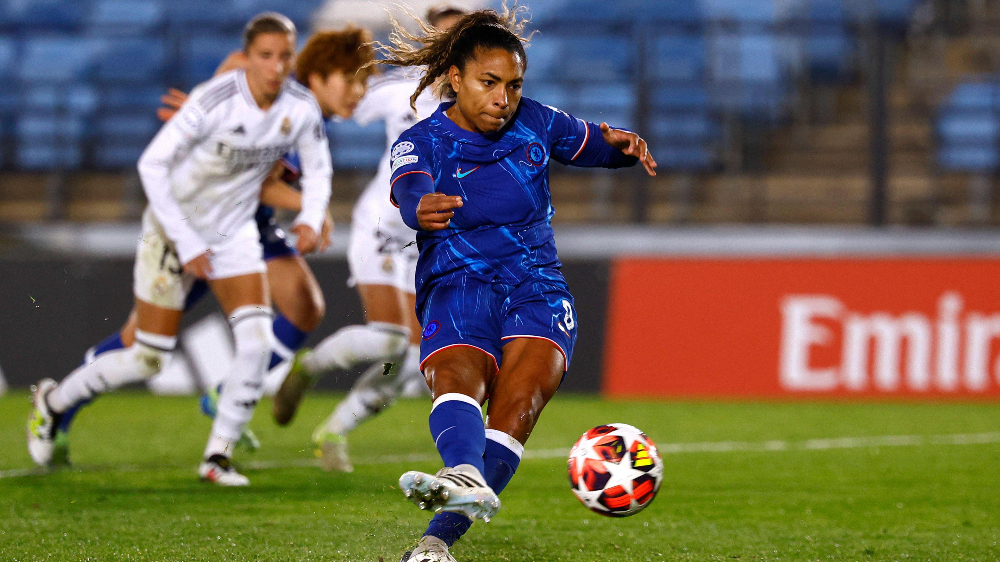
[[[406,356],[397,359],[388,373],[383,363],[375,363],[354,381],[351,391],[337,404],[326,420],[326,430],[338,435],[347,435],[361,422],[391,406],[409,382],[407,375],[412,376],[414,349],[416,349],[416,371],[419,374],[420,346],[418,345],[409,346]],[[420,374],[420,378],[423,379],[423,374]]]

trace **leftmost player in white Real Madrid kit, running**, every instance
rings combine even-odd
[[[301,253],[315,250],[330,197],[322,110],[306,87],[288,79],[295,34],[280,14],[251,20],[246,68],[195,88],[143,152],[138,168],[149,206],[134,271],[134,342],[97,356],[58,385],[38,383],[28,423],[36,463],[51,461],[63,412],[159,372],[176,346],[191,286],[205,280],[232,326],[236,354],[198,473],[220,485],[249,484],[230,456],[263,392],[271,356],[272,310],[254,221],[261,184],[282,154],[300,155],[302,211],[291,230]]]

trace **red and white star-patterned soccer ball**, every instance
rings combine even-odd
[[[652,503],[663,481],[656,445],[624,423],[599,425],[569,451],[569,482],[578,500],[608,517],[635,515]]]

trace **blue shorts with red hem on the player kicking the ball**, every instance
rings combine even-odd
[[[434,353],[455,346],[474,347],[503,361],[505,340],[538,338],[552,342],[569,368],[576,342],[573,295],[561,280],[530,280],[507,285],[452,277],[427,293],[421,310],[424,327],[420,368]]]

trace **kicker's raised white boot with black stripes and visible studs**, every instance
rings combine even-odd
[[[434,513],[451,511],[489,523],[500,510],[500,498],[471,464],[446,466],[433,475],[411,470],[399,477],[399,489],[417,507]]]

